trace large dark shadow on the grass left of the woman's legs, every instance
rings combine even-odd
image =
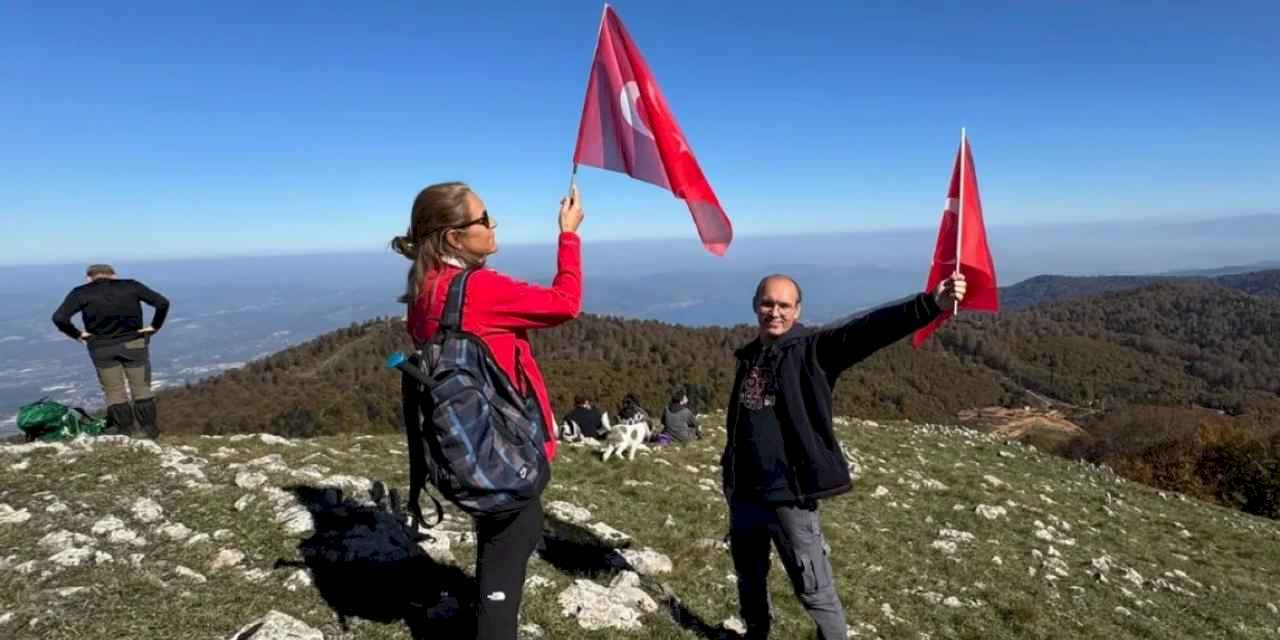
[[[287,490],[311,513],[315,530],[298,543],[301,561],[279,559],[275,566],[307,568],[344,632],[349,618],[364,618],[403,622],[417,640],[474,634],[475,579],[417,545],[443,532],[424,536],[410,529],[396,500],[388,509],[378,488],[370,492],[374,504],[343,499],[335,489]]]

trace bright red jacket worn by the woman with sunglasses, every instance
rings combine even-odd
[[[435,335],[449,283],[460,271],[456,266],[445,266],[422,278],[417,302],[408,310],[408,333],[415,340],[426,342]],[[577,317],[581,310],[582,241],[576,233],[559,234],[556,278],[550,288],[520,282],[493,269],[480,269],[467,280],[462,330],[480,337],[489,346],[498,366],[517,390],[527,394],[531,388],[538,396],[547,428],[548,460],[556,457],[556,413],[529,344],[529,330],[566,323]],[[517,371],[524,375],[516,375]]]

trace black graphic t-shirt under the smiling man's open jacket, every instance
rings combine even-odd
[[[787,483],[787,457],[778,421],[777,381],[772,349],[756,357],[739,390],[733,438],[733,490],[736,498],[760,502],[796,499]]]

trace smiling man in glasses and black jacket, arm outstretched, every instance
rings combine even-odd
[[[800,285],[760,280],[751,298],[759,335],[737,349],[721,457],[730,509],[730,550],[748,640],[769,636],[769,544],[822,640],[846,635],[845,611],[827,557],[818,502],[849,492],[849,465],[831,426],[836,379],[855,362],[929,324],[963,300],[964,275],[936,292],[886,306],[841,326],[804,332]]]

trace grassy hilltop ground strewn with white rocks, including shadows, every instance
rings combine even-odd
[[[705,419],[714,424],[714,419]],[[1280,637],[1280,524],[966,429],[840,420],[850,637]],[[564,447],[521,636],[733,637],[723,430]],[[466,632],[470,521],[406,525],[401,435],[0,445],[0,636]],[[777,637],[810,637],[781,566]]]

